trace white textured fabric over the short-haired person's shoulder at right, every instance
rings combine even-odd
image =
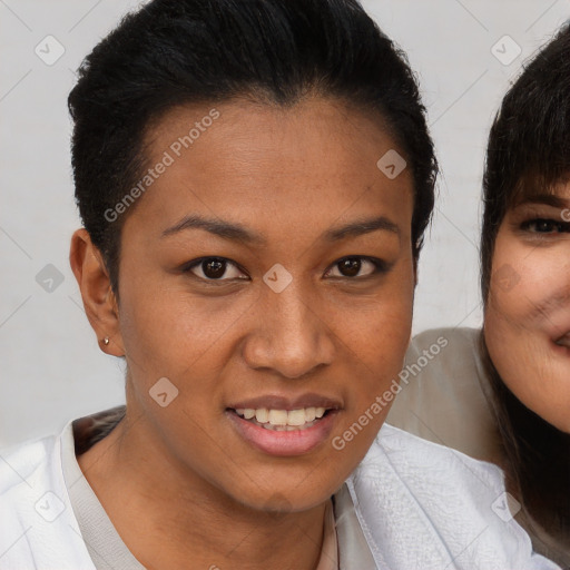
[[[384,425],[347,485],[381,568],[558,568],[532,553],[490,463]]]

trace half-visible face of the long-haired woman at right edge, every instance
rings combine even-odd
[[[570,184],[509,209],[497,236],[484,334],[527,407],[570,433]]]

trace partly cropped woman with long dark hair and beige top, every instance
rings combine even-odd
[[[448,346],[403,386],[389,417],[500,464],[535,549],[564,568],[570,568],[569,77],[566,27],[507,94],[491,130],[481,240],[483,333],[420,335],[407,366],[438,337]]]

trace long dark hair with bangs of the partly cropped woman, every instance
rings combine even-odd
[[[483,179],[481,289],[487,307],[493,250],[508,209],[570,173],[570,26],[525,67],[491,128]],[[501,380],[481,334],[480,348],[505,452],[509,485],[527,519],[570,543],[570,434],[523,405]],[[569,379],[570,381],[570,379]],[[569,410],[570,413],[570,410]]]

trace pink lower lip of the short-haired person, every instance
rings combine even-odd
[[[266,401],[264,400],[264,402]],[[248,402],[255,402],[255,400]],[[240,438],[268,455],[282,458],[309,453],[325,442],[333,431],[337,415],[338,410],[333,410],[327,412],[322,420],[318,420],[311,428],[293,432],[277,432],[255,425],[237,415],[234,410],[226,410],[226,416]]]

